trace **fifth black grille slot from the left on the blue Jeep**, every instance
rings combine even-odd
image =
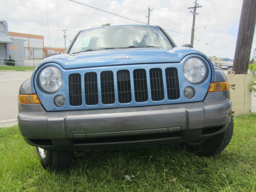
[[[148,100],[148,86],[146,70],[136,69],[133,71],[134,94],[136,102]]]

